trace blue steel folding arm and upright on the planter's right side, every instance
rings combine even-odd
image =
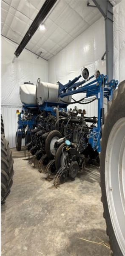
[[[106,83],[108,76],[103,74],[95,79],[94,81],[88,82],[85,80],[77,82],[80,79],[81,75],[76,77],[74,80],[69,81],[67,84],[63,85],[59,83],[59,94],[58,97],[63,98],[64,96],[69,96],[77,93],[86,93],[86,98],[90,96],[96,96],[98,99],[98,121],[97,127],[94,127],[88,137],[88,143],[91,144],[94,150],[100,152],[100,137],[101,137],[101,127],[102,127],[102,109],[103,109],[103,97],[106,97],[109,100],[112,98],[112,93],[116,89],[118,84],[117,80],[112,79],[110,82]],[[91,80],[94,76],[91,76],[88,80]]]

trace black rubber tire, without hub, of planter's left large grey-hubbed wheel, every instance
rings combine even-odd
[[[60,139],[62,138],[62,134],[57,130],[51,131],[45,140],[45,152],[50,160],[54,159],[54,155],[51,153],[50,150],[50,143],[54,137],[58,137]]]

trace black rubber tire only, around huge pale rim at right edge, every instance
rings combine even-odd
[[[116,239],[112,223],[111,216],[109,212],[109,207],[107,202],[106,194],[106,184],[105,184],[105,154],[108,143],[108,138],[111,133],[111,129],[115,125],[118,119],[125,117],[125,81],[119,84],[117,90],[113,92],[112,100],[108,102],[108,112],[105,114],[104,125],[102,125],[102,139],[100,140],[101,153],[100,153],[100,175],[101,175],[101,190],[104,213],[103,216],[107,225],[107,234],[110,239],[111,250],[114,256],[125,256],[122,254],[118,241]],[[110,207],[111,208],[111,207]]]

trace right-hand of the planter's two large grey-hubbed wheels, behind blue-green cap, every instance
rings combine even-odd
[[[57,149],[56,157],[55,157],[55,166],[56,170],[58,171],[60,167],[64,167],[67,165],[68,151],[66,150],[65,143],[61,144],[60,147]]]

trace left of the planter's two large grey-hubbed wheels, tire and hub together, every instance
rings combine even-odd
[[[45,152],[50,160],[54,159],[54,156],[56,154],[56,149],[54,147],[55,142],[62,138],[62,135],[60,134],[59,131],[51,131],[47,139],[45,140]]]

